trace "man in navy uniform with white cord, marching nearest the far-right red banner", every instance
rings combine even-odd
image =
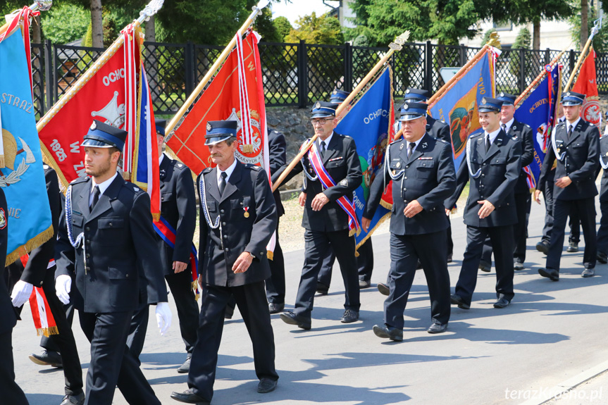
[[[559,281],[559,262],[564,247],[564,230],[569,214],[576,210],[585,237],[583,277],[595,275],[597,240],[595,234],[595,177],[600,165],[600,131],[581,119],[581,104],[585,94],[567,92],[562,96],[566,120],[553,130],[551,145],[542,162],[535,199],[544,191],[545,179],[557,160],[553,196],[553,229],[546,268],[538,269],[542,277]]]

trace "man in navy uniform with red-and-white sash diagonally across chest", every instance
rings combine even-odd
[[[281,319],[305,330],[311,328],[317,277],[323,259],[328,255],[328,249],[331,249],[329,244],[340,263],[346,289],[345,311],[341,321],[350,323],[358,320],[361,306],[354,256],[355,242],[354,237],[349,235],[349,214],[347,208],[342,208],[336,200],[340,199],[345,207],[352,204],[352,193],[361,185],[363,176],[354,140],[334,132],[337,106],[325,101],[317,101],[314,104],[311,123],[315,134],[318,135],[314,149],[319,161],[317,164],[311,163],[309,154],[306,154],[302,165],[295,166],[285,178],[285,181],[288,181],[302,170],[307,177],[304,187],[306,206],[302,217],[306,256],[294,311],[282,313]],[[273,183],[286,167],[283,166],[273,175]],[[327,177],[324,180],[327,187],[321,183],[317,173]],[[330,185],[330,182],[334,185]]]

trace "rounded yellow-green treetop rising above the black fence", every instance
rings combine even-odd
[[[304,15],[296,21],[296,25],[297,28],[292,28],[289,35],[285,37],[286,42],[300,42],[303,39],[307,44],[339,45],[344,43],[340,21],[328,13],[321,17],[317,17],[315,12],[311,15]]]

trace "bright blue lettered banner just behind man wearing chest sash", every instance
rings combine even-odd
[[[356,152],[359,154],[363,182],[354,191],[353,201],[359,223],[361,223],[366,201],[369,197],[371,182],[378,174],[378,168],[383,164],[389,139],[392,139],[395,135],[392,130],[394,120],[392,70],[389,67],[384,70],[365,94],[349,108],[349,111],[342,117],[335,129],[337,133],[349,135],[354,139]],[[356,235],[357,248],[371,236],[378,225],[390,217],[390,204],[392,204],[390,192],[388,196],[388,199],[383,198],[376,213],[371,218],[369,232],[365,232],[361,228],[361,232]]]

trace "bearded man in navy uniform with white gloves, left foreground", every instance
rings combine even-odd
[[[81,144],[91,177],[70,183],[56,244],[57,297],[63,304],[74,301],[91,342],[87,405],[110,405],[117,385],[130,404],[161,404],[126,344],[140,304],[140,278],[147,283],[148,303],[156,304],[161,333],[171,318],[150,197],[117,172],[126,137],[93,121]]]

